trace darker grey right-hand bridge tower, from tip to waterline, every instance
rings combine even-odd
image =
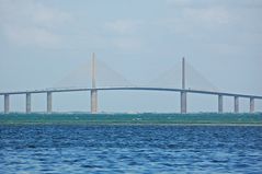
[[[182,89],[185,90],[185,59],[182,59]],[[181,114],[186,114],[186,92],[181,92]]]

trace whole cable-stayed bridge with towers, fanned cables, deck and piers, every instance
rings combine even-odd
[[[99,66],[98,66],[99,65]],[[90,68],[89,68],[90,67]],[[187,76],[189,74],[189,76]],[[195,84],[197,85],[194,85]],[[72,85],[73,84],[73,85]],[[181,85],[181,86],[180,86]],[[191,88],[186,88],[186,86]],[[61,88],[64,86],[64,88]],[[66,86],[66,88],[65,88]],[[208,89],[206,89],[208,86]],[[92,54],[91,65],[82,65],[72,73],[64,78],[55,88],[44,90],[29,90],[29,91],[12,91],[0,92],[4,96],[4,113],[10,112],[10,95],[23,94],[25,95],[25,112],[32,112],[31,96],[36,93],[46,93],[46,112],[53,112],[53,93],[65,92],[90,92],[91,113],[98,113],[99,91],[156,91],[156,92],[176,92],[180,93],[180,112],[185,114],[187,112],[186,96],[190,93],[216,95],[218,98],[218,113],[224,111],[224,96],[233,97],[233,112],[239,113],[239,98],[244,97],[250,100],[250,113],[254,112],[254,101],[262,100],[259,95],[248,95],[240,93],[220,92],[206,78],[204,78],[197,70],[182,59],[182,66],[172,67],[170,70],[152,80],[148,84],[134,85],[128,82],[122,74],[112,70],[105,63],[95,59]]]

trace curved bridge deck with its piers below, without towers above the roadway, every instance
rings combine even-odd
[[[47,96],[47,113],[52,113],[52,94],[53,93],[62,93],[62,92],[81,92],[81,91],[156,91],[156,92],[178,92],[181,93],[181,97],[183,97],[183,93],[196,93],[196,94],[207,94],[207,95],[217,95],[218,96],[218,112],[223,113],[223,96],[232,96],[235,98],[235,113],[239,112],[239,98],[250,98],[250,112],[254,112],[254,100],[262,100],[262,96],[259,95],[246,95],[239,93],[228,93],[228,92],[214,92],[214,91],[202,91],[202,90],[186,90],[186,89],[172,89],[172,88],[150,88],[150,86],[105,86],[105,88],[68,88],[68,89],[45,89],[45,90],[33,90],[33,91],[15,91],[15,92],[3,92],[0,95],[4,96],[4,113],[9,113],[10,108],[10,95],[25,95],[26,102],[26,113],[31,113],[31,95],[37,93],[46,93]],[[91,96],[92,97],[92,96]],[[95,101],[96,100],[96,101]],[[96,102],[96,112],[98,112],[98,98],[93,102]],[[185,106],[183,106],[185,104]],[[91,100],[92,105],[92,100]],[[94,105],[94,103],[93,103]],[[185,102],[181,98],[181,113],[186,113],[183,109],[186,108],[186,96]],[[92,111],[91,113],[96,113]]]

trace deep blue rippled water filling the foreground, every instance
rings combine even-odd
[[[2,125],[0,173],[262,173],[262,127]]]

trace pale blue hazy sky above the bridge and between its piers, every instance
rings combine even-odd
[[[0,91],[57,86],[95,53],[135,85],[174,70],[185,57],[219,91],[262,95],[261,19],[261,0],[0,0]],[[33,111],[46,109],[45,94],[32,97]],[[89,97],[54,94],[54,111],[88,112]],[[101,92],[99,109],[179,112],[179,97]],[[190,112],[217,111],[217,96],[187,101]],[[11,96],[11,111],[23,112],[24,103],[25,96]],[[240,111],[248,103],[241,100]],[[255,107],[262,111],[262,102]],[[231,109],[232,98],[226,97],[225,111]]]

